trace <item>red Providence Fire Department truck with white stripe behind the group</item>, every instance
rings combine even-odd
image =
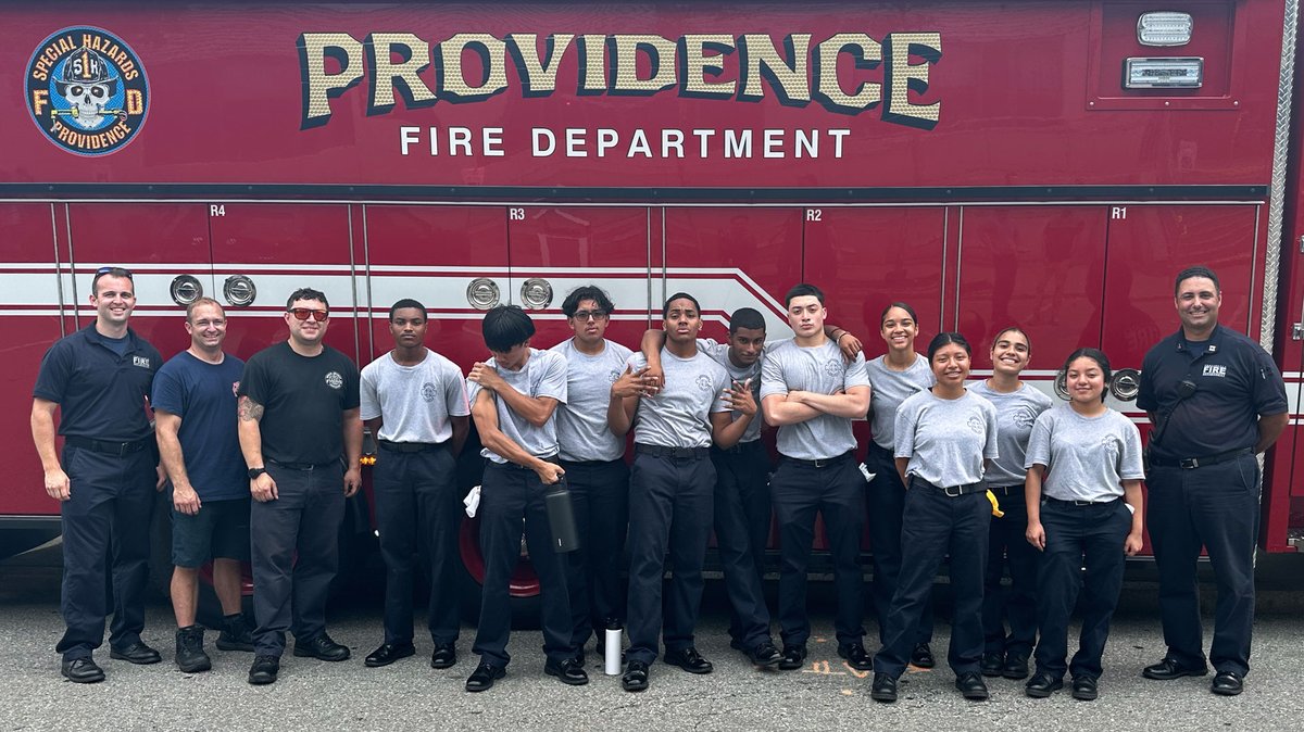
[[[248,357],[312,284],[359,363],[417,297],[463,369],[498,302],[531,311],[536,345],[569,335],[558,303],[583,283],[627,344],[679,289],[708,335],[752,306],[776,339],[805,280],[870,356],[893,300],[979,354],[1021,326],[1047,389],[1101,346],[1144,423],[1136,369],[1176,327],[1174,274],[1205,263],[1223,323],[1286,374],[1262,547],[1294,551],[1297,4],[4,3],[0,544],[57,534],[25,417],[103,264],[136,272],[133,327],[164,354],[201,293]]]

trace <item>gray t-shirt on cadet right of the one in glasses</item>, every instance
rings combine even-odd
[[[642,353],[630,357],[635,371],[647,366]],[[698,350],[679,358],[661,349],[665,388],[639,400],[634,414],[634,442],[657,447],[711,447],[711,414],[728,412],[720,395],[729,388],[729,374]]]

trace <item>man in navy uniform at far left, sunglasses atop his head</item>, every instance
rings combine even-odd
[[[55,647],[63,675],[104,680],[91,651],[104,641],[104,561],[112,552],[110,658],[158,663],[141,641],[149,581],[154,491],[162,486],[154,429],[146,414],[159,352],[128,327],[136,307],[132,272],[102,267],[91,281],[95,322],[46,352],[33,389],[31,438],[46,492],[60,501],[64,531],[61,608],[68,629]],[[64,436],[55,449],[55,410]]]

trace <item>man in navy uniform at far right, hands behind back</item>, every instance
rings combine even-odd
[[[1209,551],[1218,585],[1211,690],[1235,696],[1249,671],[1254,620],[1256,455],[1286,429],[1286,384],[1254,341],[1218,324],[1222,289],[1208,267],[1178,275],[1181,330],[1146,353],[1137,406],[1150,415],[1150,541],[1168,651],[1148,679],[1208,673],[1196,560]]]

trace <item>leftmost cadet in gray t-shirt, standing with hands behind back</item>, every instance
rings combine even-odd
[[[389,666],[416,653],[412,645],[412,581],[419,547],[429,548],[430,663],[456,663],[462,628],[458,594],[456,456],[469,431],[471,405],[462,370],[425,348],[425,306],[400,300],[390,307],[394,349],[361,374],[361,417],[377,435],[372,494],[385,560],[385,641],[368,667]]]

